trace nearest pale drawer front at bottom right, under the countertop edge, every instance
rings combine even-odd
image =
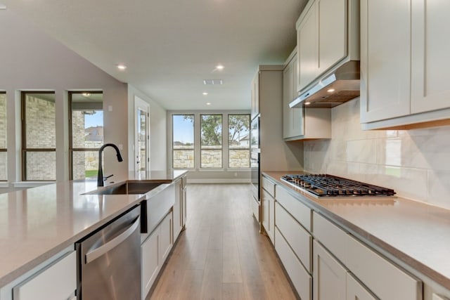
[[[353,237],[349,237],[348,243],[347,267],[380,299],[422,299],[422,282]]]

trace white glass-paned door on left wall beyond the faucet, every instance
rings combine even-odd
[[[134,171],[150,171],[150,105],[134,96]]]

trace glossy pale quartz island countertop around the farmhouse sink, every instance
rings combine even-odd
[[[131,172],[114,178],[114,184],[127,180],[172,183],[186,173]],[[111,183],[105,188],[108,185]],[[97,189],[97,181],[92,179],[0,194],[0,287],[138,205],[144,197],[83,195]]]

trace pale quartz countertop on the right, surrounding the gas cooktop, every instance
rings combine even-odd
[[[398,261],[450,289],[450,210],[397,197],[394,200],[316,199],[266,171],[300,201],[350,233],[383,249]]]

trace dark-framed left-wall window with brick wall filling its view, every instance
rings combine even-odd
[[[56,180],[55,93],[22,93],[22,179]]]

